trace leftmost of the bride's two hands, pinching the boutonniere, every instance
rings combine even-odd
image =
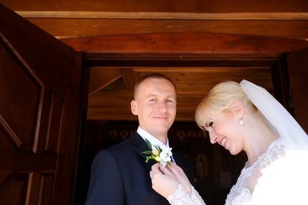
[[[174,174],[166,167],[160,166],[160,163],[156,163],[152,166],[150,177],[153,190],[165,198],[168,198],[170,194],[174,194],[180,184]]]

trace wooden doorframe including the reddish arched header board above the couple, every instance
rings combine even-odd
[[[277,100],[294,115],[290,81],[285,54],[308,47],[307,41],[267,38],[260,36],[214,33],[153,33],[119,36],[99,36],[62,40],[83,53],[84,64],[90,67],[246,67],[271,68],[274,94]],[[232,64],[232,65],[230,65]],[[151,66],[149,66],[151,65]],[[192,65],[192,66],[191,66]],[[88,94],[88,82],[81,92]],[[81,87],[81,88],[82,88]],[[79,144],[76,144],[73,201],[79,205],[81,196],[80,172],[83,167],[88,95],[83,96],[80,108]],[[86,101],[86,102],[85,102]]]

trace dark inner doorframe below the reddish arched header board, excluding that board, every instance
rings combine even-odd
[[[109,55],[109,54],[106,54]],[[239,54],[240,55],[240,54]],[[100,54],[99,58],[85,58],[85,70],[84,73],[87,77],[85,79],[89,79],[90,75],[90,67],[142,67],[145,65],[150,65],[152,63],[155,64],[155,67],[162,67],[168,65],[168,67],[179,67],[180,64],[183,62],[184,65],[182,67],[187,67],[188,64],[192,64],[191,67],[206,67],[206,64],[209,64],[213,66],[215,63],[219,64],[219,67],[221,66],[227,66],[230,63],[233,63],[232,65],[240,66],[241,63],[242,66],[248,66],[249,64],[254,64],[254,66],[266,66],[272,64],[271,71],[272,71],[272,82],[273,82],[273,88],[275,92],[275,96],[278,101],[284,105],[284,107],[290,112],[293,113],[293,107],[290,106],[290,95],[288,95],[288,79],[285,80],[285,77],[287,77],[287,70],[285,70],[285,61],[281,58],[254,58],[253,60],[245,61],[246,58],[205,58],[204,55],[202,55],[201,58],[182,58],[179,61],[179,58],[177,57],[170,57],[168,55],[165,55],[164,58],[152,58],[152,57],[143,57],[140,58],[138,54],[131,54],[130,56],[127,56],[125,58],[122,57],[122,53],[117,53],[117,56],[113,57],[102,57],[102,54]],[[246,59],[247,60],[247,59]],[[187,63],[186,63],[187,62]],[[125,66],[126,65],[126,66]],[[232,66],[229,66],[232,67]],[[275,76],[275,78],[273,78]],[[275,82],[275,83],[274,83]],[[83,178],[83,165],[84,165],[84,152],[85,152],[85,138],[86,138],[86,114],[87,114],[87,105],[88,105],[88,96],[84,95],[85,93],[88,94],[89,89],[89,81],[86,83],[86,80],[83,82],[84,85],[81,87],[81,92],[83,92],[83,107],[81,107],[80,111],[82,112],[81,117],[81,127],[80,127],[80,139],[79,139],[79,149],[78,153],[76,153],[76,169],[74,171],[74,194],[73,194],[73,204],[80,205],[82,201],[81,196],[85,195],[85,193],[82,193],[82,178]]]

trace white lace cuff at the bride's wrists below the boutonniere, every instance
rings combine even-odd
[[[198,192],[191,186],[191,197],[185,191],[182,184],[179,184],[177,191],[167,198],[171,205],[206,205]]]

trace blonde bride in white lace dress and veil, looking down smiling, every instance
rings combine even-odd
[[[225,204],[308,204],[308,136],[264,88],[220,83],[198,105],[196,122],[211,143],[247,154]],[[171,165],[152,166],[152,188],[172,205],[204,205],[183,170]]]

